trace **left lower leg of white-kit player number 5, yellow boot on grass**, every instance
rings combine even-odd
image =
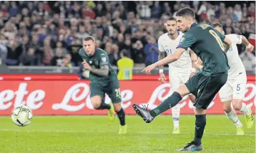
[[[237,135],[244,135],[245,132],[243,130],[243,125],[240,122],[240,120],[238,119],[237,113],[231,107],[231,100],[223,102],[223,110],[224,110],[227,118],[229,118],[234,123],[234,125],[237,127]]]

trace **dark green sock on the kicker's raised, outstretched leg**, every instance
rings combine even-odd
[[[182,100],[182,96],[179,93],[174,92],[171,96],[167,97],[167,99],[165,99],[159,106],[154,108],[154,110],[151,110],[150,115],[152,115],[152,117],[156,117],[162,112],[165,112],[166,110],[169,110],[169,108],[177,105],[180,100]]]

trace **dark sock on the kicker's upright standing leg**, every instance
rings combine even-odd
[[[193,142],[196,146],[199,146],[205,130],[206,115],[195,115],[195,117],[195,137]]]

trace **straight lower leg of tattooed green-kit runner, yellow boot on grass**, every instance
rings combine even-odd
[[[119,118],[119,121],[120,121],[118,134],[126,134],[127,125],[125,124],[125,112],[121,106],[121,102],[114,103],[114,111],[117,112],[117,117]]]

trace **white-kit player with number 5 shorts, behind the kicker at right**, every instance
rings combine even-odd
[[[224,34],[222,25],[220,23],[213,23],[212,26],[217,31],[220,31]],[[219,91],[219,95],[220,100],[223,103],[223,110],[225,111],[225,114],[236,125],[237,134],[243,135],[245,134],[243,130],[243,125],[238,119],[235,110],[238,110],[245,114],[245,122],[247,128],[252,127],[253,116],[251,108],[247,107],[247,105],[242,102],[242,99],[245,97],[246,93],[247,75],[245,67],[242,64],[242,60],[240,59],[237,51],[237,44],[243,43],[246,46],[247,51],[249,52],[253,51],[254,46],[252,46],[249,41],[247,41],[245,36],[240,36],[236,34],[229,34],[226,36],[232,41],[232,46],[230,47],[230,50],[227,51],[227,60],[230,65],[230,70],[228,70],[227,83],[222,86]],[[231,102],[235,110],[232,108]]]

